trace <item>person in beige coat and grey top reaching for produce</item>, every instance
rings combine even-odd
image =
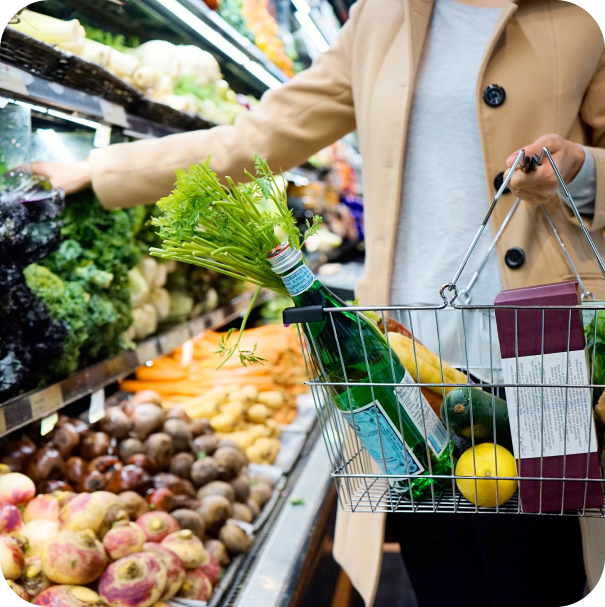
[[[286,169],[356,129],[366,206],[366,275],[357,295],[366,305],[435,301],[522,147],[530,156],[550,149],[605,253],[604,50],[593,17],[564,0],[358,0],[337,44],[234,126],[121,144],[95,150],[90,162],[34,169],[68,191],[92,183],[107,208],[148,204],[170,191],[175,169],[209,154],[220,176],[243,180],[254,153]],[[515,197],[523,202],[475,286],[476,302],[493,303],[503,287],[572,278],[543,203],[586,288],[605,298],[605,280],[549,165],[517,171],[511,190],[494,210],[493,230]],[[547,527],[551,517],[430,517],[393,518],[421,607],[442,598],[549,607],[580,600],[577,520]],[[335,557],[368,604],[384,518],[339,513]],[[599,532],[601,521],[583,522],[591,589],[605,566]],[[542,543],[549,534],[558,541]],[[552,590],[542,601],[541,553]],[[515,559],[516,568],[505,567]]]

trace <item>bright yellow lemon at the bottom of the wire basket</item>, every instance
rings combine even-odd
[[[488,479],[490,476],[517,476],[517,466],[513,454],[508,449],[494,445],[494,443],[475,445],[474,452],[474,458],[473,449],[468,449],[460,456],[456,465],[456,476],[478,476],[481,477],[481,480],[476,481],[475,494],[475,479],[456,479],[460,493],[472,504],[484,508],[495,508],[496,504],[501,506],[508,502],[517,490],[517,481],[483,480],[483,477]],[[498,462],[497,475],[496,461]],[[498,485],[497,496],[496,484]]]

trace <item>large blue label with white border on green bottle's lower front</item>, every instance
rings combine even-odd
[[[383,474],[416,476],[424,472],[422,464],[377,400],[352,413],[340,412]]]

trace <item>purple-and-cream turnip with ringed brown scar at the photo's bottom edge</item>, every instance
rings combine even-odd
[[[99,581],[99,594],[112,607],[151,607],[164,593],[166,580],[162,561],[139,552],[107,568]]]

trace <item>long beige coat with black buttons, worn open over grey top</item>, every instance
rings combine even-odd
[[[338,43],[306,72],[267,92],[254,113],[234,126],[96,150],[93,187],[108,208],[155,202],[171,189],[173,172],[212,155],[219,175],[243,180],[254,153],[283,169],[357,130],[366,205],[366,276],[361,303],[389,303],[395,230],[410,101],[433,0],[358,0]],[[564,0],[511,1],[488,44],[477,82],[477,112],[488,191],[514,150],[558,133],[591,147],[596,160],[596,212],[589,229],[605,253],[605,42],[595,19]],[[497,108],[483,101],[489,84],[506,90]],[[444,91],[447,95],[447,91]],[[460,162],[464,169],[464,159]],[[513,202],[494,211],[496,230]],[[605,281],[571,212],[558,200],[553,221],[587,288],[605,297]],[[505,252],[521,247],[522,268],[510,270]],[[571,272],[536,209],[522,204],[497,245],[508,288],[556,282]],[[367,603],[380,569],[384,516],[339,516],[334,554]],[[589,583],[605,567],[605,522],[583,525]],[[599,539],[602,538],[602,539]]]

